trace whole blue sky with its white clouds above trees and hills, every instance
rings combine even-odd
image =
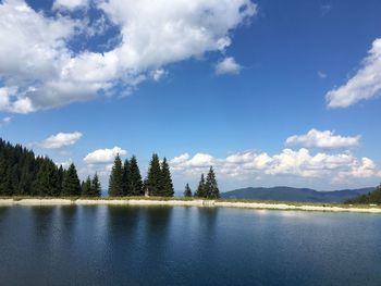
[[[0,137],[175,190],[381,182],[379,0],[2,0]]]

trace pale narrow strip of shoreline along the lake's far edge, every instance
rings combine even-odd
[[[269,201],[226,201],[226,200],[182,200],[182,199],[155,199],[155,198],[0,198],[0,207],[3,206],[169,206],[169,207],[207,207],[207,208],[241,208],[256,210],[279,211],[319,211],[319,212],[357,212],[381,213],[377,206],[348,206],[342,204],[312,204]]]

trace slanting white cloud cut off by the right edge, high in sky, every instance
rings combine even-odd
[[[360,100],[368,100],[381,92],[381,38],[373,41],[362,66],[343,86],[325,95],[329,108],[347,108]]]

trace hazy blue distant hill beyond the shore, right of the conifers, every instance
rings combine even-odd
[[[342,189],[333,191],[317,191],[309,188],[273,187],[273,188],[242,188],[222,192],[224,199],[244,200],[278,200],[305,202],[345,202],[374,190],[371,188]]]

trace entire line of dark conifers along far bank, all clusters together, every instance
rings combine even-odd
[[[122,163],[118,154],[110,173],[108,190],[110,197],[173,197],[169,163],[165,158],[160,162],[158,154],[153,153],[147,177],[143,179],[136,157]],[[36,157],[32,150],[21,145],[13,146],[0,138],[0,196],[100,197],[101,185],[97,173],[81,182],[73,163],[63,169],[48,157]],[[220,197],[212,166],[206,179],[201,175],[195,194],[186,184],[184,197]]]

